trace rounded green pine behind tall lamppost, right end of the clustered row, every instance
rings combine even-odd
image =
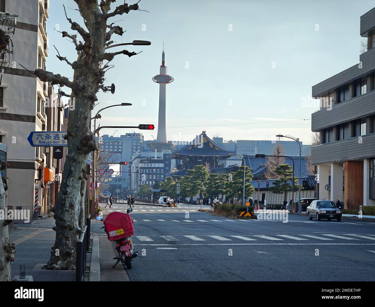
[[[243,168],[240,166],[237,172],[231,172],[225,184],[225,194],[229,198],[240,198],[243,196]],[[248,181],[253,179],[249,166],[245,166],[245,199],[255,191],[254,187]]]

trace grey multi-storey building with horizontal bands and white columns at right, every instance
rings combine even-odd
[[[360,62],[353,59],[354,66],[312,87],[321,101],[311,115],[311,130],[320,133],[320,145],[311,148],[318,195],[325,196],[330,169],[330,199],[339,198],[348,209],[375,205],[375,8],[361,16],[360,35],[368,39]]]

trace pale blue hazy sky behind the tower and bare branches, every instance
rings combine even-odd
[[[73,70],[55,57],[53,48],[71,62],[77,59],[73,44],[55,30],[73,33],[63,4],[68,16],[84,25],[73,0],[51,1],[46,69],[71,78]],[[120,4],[117,0],[113,8]],[[129,46],[129,51],[142,52],[115,57],[115,67],[106,73],[106,85],[114,83],[115,94],[99,92],[93,114],[121,102],[132,106],[103,111],[97,126],[155,124],[155,130],[135,131],[145,140],[156,138],[159,85],[151,79],[159,73],[164,42],[165,65],[174,78],[166,85],[168,140],[191,141],[205,130],[224,141],[274,140],[283,134],[311,144],[311,114],[318,109],[311,87],[358,63],[360,16],[373,7],[368,0],[360,5],[338,0],[141,0],[139,8],[148,12],[111,19],[126,30],[113,39],[149,40],[151,45]],[[303,106],[303,100],[312,106]],[[101,135],[126,132],[131,130],[103,129]]]

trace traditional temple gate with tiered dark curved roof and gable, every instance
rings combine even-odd
[[[210,169],[225,166],[225,159],[233,156],[234,152],[225,150],[210,139],[205,131],[179,150],[174,151],[171,159],[181,160],[180,170],[192,169],[196,165],[209,165]]]

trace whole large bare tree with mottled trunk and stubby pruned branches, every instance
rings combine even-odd
[[[74,70],[73,80],[65,76],[54,74],[42,69],[36,69],[34,74],[41,81],[68,87],[71,94],[62,92],[63,96],[74,99],[74,111],[69,112],[67,136],[68,154],[63,170],[62,183],[58,193],[57,204],[54,208],[56,222],[56,239],[51,250],[51,258],[46,265],[47,269],[74,270],[75,246],[81,233],[80,207],[84,192],[81,187],[86,184],[85,168],[86,159],[91,151],[97,149],[95,137],[90,131],[90,118],[94,103],[98,100],[96,94],[99,90],[114,93],[114,85],[104,85],[105,72],[110,69],[109,63],[116,55],[131,57],[136,52],[126,49],[117,52],[106,52],[105,48],[113,43],[112,35],[123,35],[124,30],[119,25],[110,23],[111,17],[139,10],[138,3],[118,5],[111,10],[111,4],[116,0],[74,0],[78,6],[84,26],[81,26],[65,12],[73,33],[62,31],[62,37],[72,41],[77,51],[77,60],[69,61],[59,53],[57,58],[66,62]],[[65,7],[64,7],[65,9]],[[104,61],[107,63],[104,64]],[[81,183],[83,181],[83,183]]]

